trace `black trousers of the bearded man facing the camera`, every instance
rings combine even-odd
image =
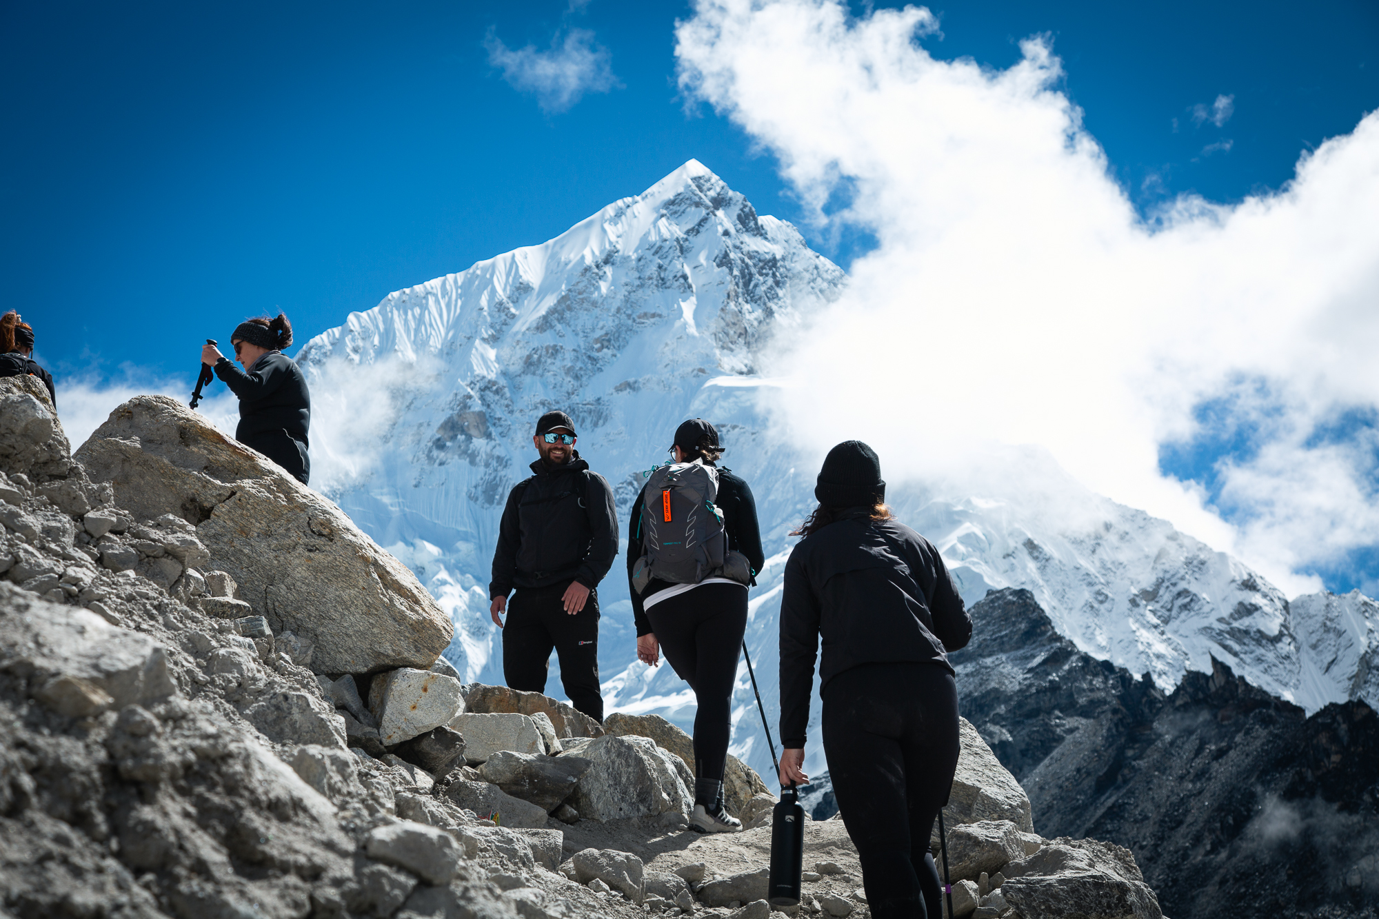
[[[503,679],[513,689],[545,693],[550,651],[554,650],[560,655],[560,682],[570,704],[603,723],[598,591],[590,591],[585,609],[570,615],[561,603],[570,584],[517,588],[513,593],[503,625]]]

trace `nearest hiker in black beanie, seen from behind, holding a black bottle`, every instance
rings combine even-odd
[[[895,520],[876,451],[840,443],[785,570],[781,785],[805,784],[814,662],[823,752],[876,919],[942,916],[929,833],[957,769],[957,686],[946,651],[972,638],[942,556]]]

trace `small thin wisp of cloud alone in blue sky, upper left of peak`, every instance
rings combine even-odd
[[[594,43],[594,33],[587,29],[557,30],[549,51],[531,44],[514,51],[492,32],[484,47],[488,62],[502,69],[503,79],[513,88],[534,94],[546,112],[565,112],[585,92],[608,92],[621,86],[608,48]]]

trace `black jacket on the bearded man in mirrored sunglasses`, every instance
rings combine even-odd
[[[618,515],[608,480],[571,453],[563,466],[531,464],[536,475],[513,486],[498,524],[488,599],[514,586],[539,588],[574,578],[598,586],[618,556]]]

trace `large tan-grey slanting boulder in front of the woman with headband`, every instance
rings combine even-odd
[[[314,647],[317,673],[427,669],[450,617],[331,501],[167,396],[110,413],[76,458],[139,519],[196,526],[240,599]]]

